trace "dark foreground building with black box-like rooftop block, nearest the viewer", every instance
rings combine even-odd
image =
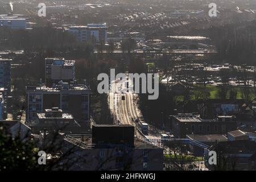
[[[134,137],[131,125],[95,126],[92,136],[66,135],[64,141],[63,154],[75,150],[67,159],[70,170],[163,170],[163,148]]]

